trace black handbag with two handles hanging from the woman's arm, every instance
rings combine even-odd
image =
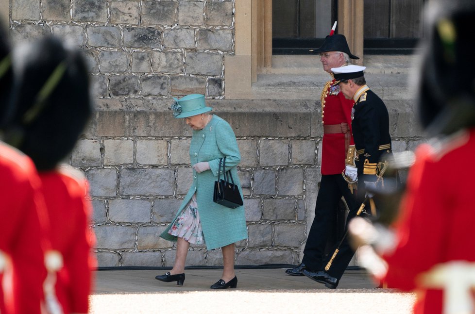
[[[223,179],[220,180],[221,174],[221,161],[222,161],[222,168],[223,168]],[[242,206],[242,198],[241,194],[239,193],[239,188],[236,184],[234,184],[233,176],[231,175],[231,171],[226,171],[226,157],[220,159],[220,166],[218,167],[218,181],[214,182],[214,193],[213,193],[213,201],[220,205],[229,207],[229,208],[236,208]],[[231,179],[231,182],[229,182]]]

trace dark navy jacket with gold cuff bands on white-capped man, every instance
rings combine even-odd
[[[358,182],[377,180],[376,167],[384,153],[391,151],[389,114],[386,105],[366,85],[354,96],[352,131],[355,140]]]

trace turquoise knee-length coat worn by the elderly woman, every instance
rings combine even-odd
[[[220,158],[223,157],[226,157],[226,171],[231,170],[234,183],[239,187],[242,197],[241,184],[236,169],[237,164],[241,161],[241,154],[237,147],[236,135],[229,123],[219,116],[213,115],[203,130],[193,130],[189,152],[191,165],[208,162],[210,170],[201,173],[193,170],[193,184],[172,223],[160,236],[170,241],[177,240],[177,237],[170,235],[168,231],[196,192],[198,212],[208,250],[247,239],[244,206],[232,209],[213,202],[214,182],[218,180],[218,167]],[[221,179],[222,172],[221,166]]]

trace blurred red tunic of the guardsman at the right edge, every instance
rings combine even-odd
[[[437,147],[421,145],[409,171],[407,194],[396,224],[397,247],[384,256],[389,287],[420,292],[416,314],[442,313],[442,290],[428,289],[417,278],[434,265],[475,263],[475,129],[450,136]],[[419,277],[420,278],[420,277]]]

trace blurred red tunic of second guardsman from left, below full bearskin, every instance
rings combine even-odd
[[[89,228],[88,184],[73,168],[40,172],[51,224],[51,246],[63,255],[56,296],[64,313],[87,313],[91,292],[95,236]]]

